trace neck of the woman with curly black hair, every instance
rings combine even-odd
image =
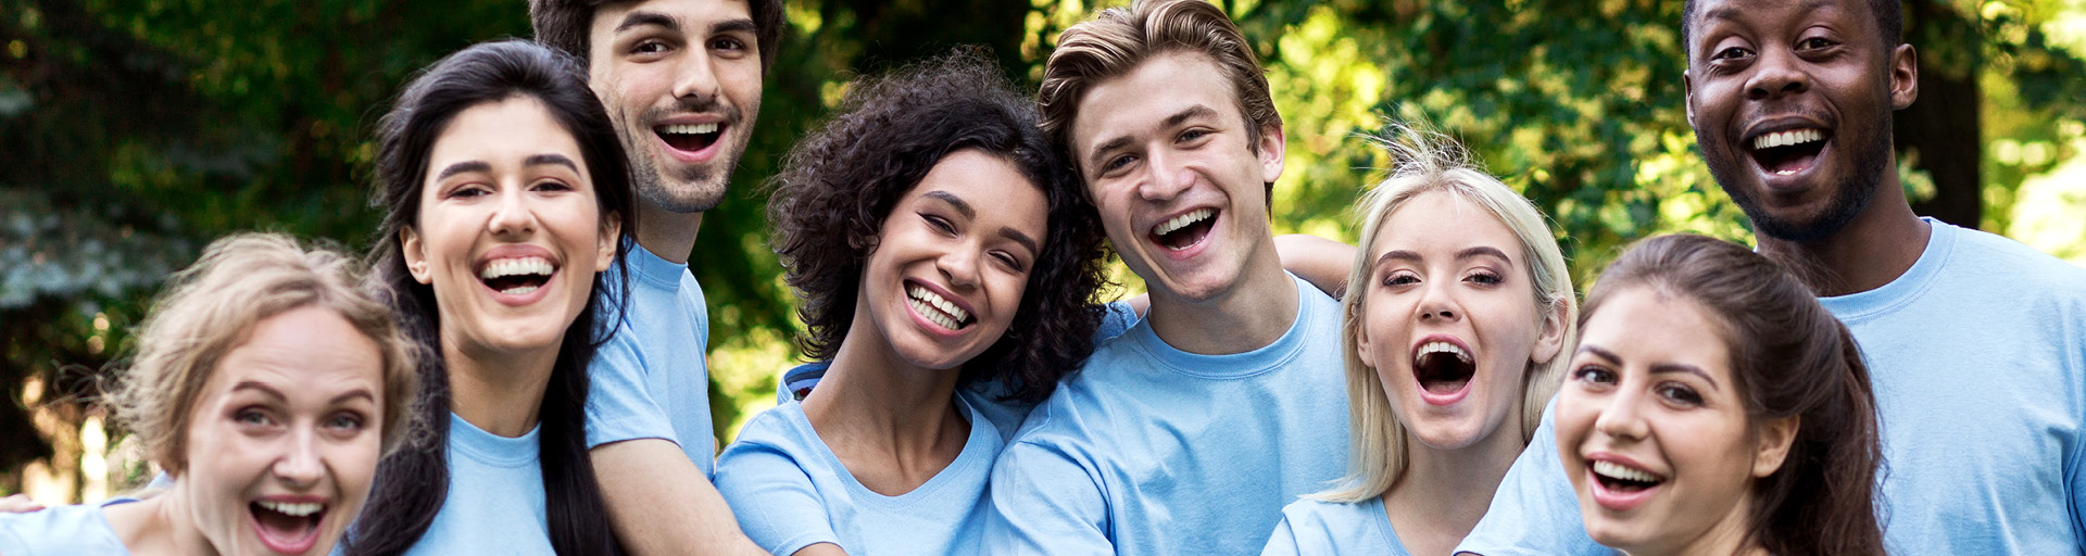
[[[882,337],[857,339],[874,333],[874,325],[862,321],[857,317],[826,375],[803,398],[803,414],[855,481],[899,496],[947,469],[978,423],[964,421],[955,406],[962,369],[907,364]]]

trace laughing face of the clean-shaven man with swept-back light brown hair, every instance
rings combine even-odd
[[[1168,52],[1078,102],[1081,177],[1122,262],[1158,296],[1212,300],[1252,264],[1279,264],[1266,183],[1283,173],[1283,131],[1254,144],[1235,96],[1208,56]]]

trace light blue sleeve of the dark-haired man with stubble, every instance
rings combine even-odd
[[[626,439],[657,437],[680,446],[674,423],[659,400],[645,389],[645,358],[630,327],[595,352],[586,385],[586,448]],[[713,450],[707,448],[705,450]]]

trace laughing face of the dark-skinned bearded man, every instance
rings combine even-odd
[[[1717,183],[1763,235],[1811,242],[1896,187],[1890,112],[1911,46],[1884,48],[1865,0],[1704,0],[1688,44],[1688,121]]]

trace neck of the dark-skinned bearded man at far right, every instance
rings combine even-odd
[[[1840,231],[1815,242],[1763,233],[1761,254],[1790,264],[1819,298],[1861,294],[1898,279],[1919,262],[1934,229],[1905,202],[1896,171],[1875,187],[1869,206]]]

